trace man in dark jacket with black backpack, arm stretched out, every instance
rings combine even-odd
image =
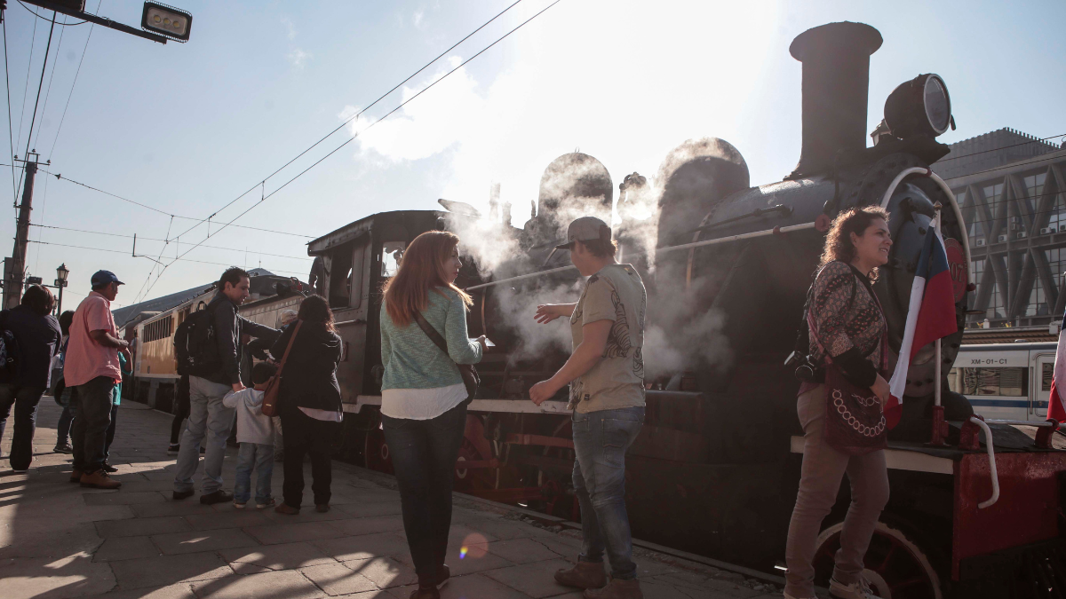
[[[222,462],[233,409],[222,399],[244,389],[241,383],[241,336],[275,340],[281,331],[254,323],[237,313],[248,297],[248,273],[231,266],[216,284],[214,298],[203,310],[189,314],[175,333],[179,369],[189,373],[189,424],[181,435],[174,476],[174,499],[192,497],[193,474],[199,463],[199,446],[207,436],[200,503],[232,501],[222,489]]]

